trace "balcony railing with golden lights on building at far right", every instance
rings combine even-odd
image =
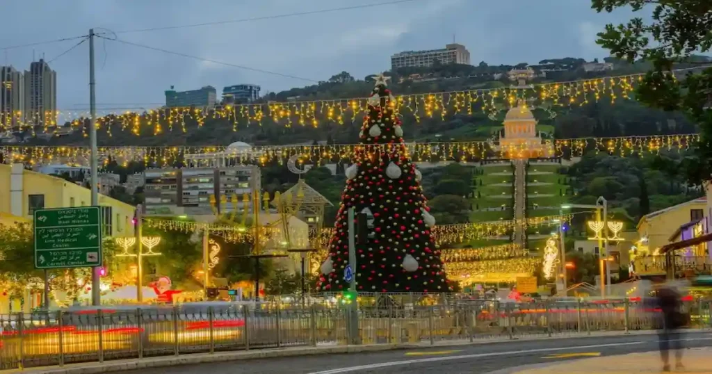
[[[712,259],[708,256],[644,256],[632,261],[632,273],[639,276],[671,274],[681,276],[688,271],[694,274],[712,274]]]

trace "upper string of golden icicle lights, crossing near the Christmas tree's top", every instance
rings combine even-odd
[[[672,71],[676,75],[698,70],[683,68]],[[410,114],[416,121],[422,117],[440,116],[445,120],[450,115],[473,114],[475,108],[493,115],[505,108],[511,108],[520,100],[538,102],[540,108],[564,105],[585,105],[607,97],[611,103],[619,98],[628,99],[635,85],[644,73],[610,76],[567,82],[537,83],[525,86],[503,88],[478,88],[439,93],[412,93],[397,95],[392,100],[396,113]],[[105,110],[97,119],[98,129],[112,132],[130,132],[133,135],[159,135],[166,131],[180,130],[187,133],[189,126],[201,127],[212,120],[224,120],[237,131],[239,125],[263,125],[266,121],[291,127],[293,125],[318,128],[321,123],[344,124],[354,122],[367,110],[368,98],[345,98],[333,100],[303,100],[287,102],[251,103],[219,105],[214,108],[158,108],[140,109],[140,112],[117,112]],[[70,128],[80,128],[87,136],[89,113],[86,110],[56,110],[44,113],[0,113],[0,131],[31,130],[36,127],[43,133],[58,134],[65,130],[60,127],[68,123]]]

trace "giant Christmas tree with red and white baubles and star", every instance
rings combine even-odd
[[[320,271],[318,289],[347,291],[344,269],[349,261],[347,213],[365,213],[366,244],[356,245],[357,291],[448,292],[440,250],[431,228],[434,217],[420,186],[421,174],[403,142],[396,104],[378,76],[368,100],[356,160],[346,170],[347,183],[337,213],[329,256]]]

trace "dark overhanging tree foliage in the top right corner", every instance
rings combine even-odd
[[[651,21],[641,17],[627,24],[608,24],[598,34],[599,43],[612,56],[627,61],[650,61],[637,99],[662,110],[680,110],[700,126],[701,140],[682,165],[690,182],[699,184],[712,175],[712,68],[690,71],[684,79],[671,72],[674,64],[708,63],[695,53],[712,48],[712,1],[708,0],[592,0],[596,11],[622,7],[652,10]]]

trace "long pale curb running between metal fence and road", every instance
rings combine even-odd
[[[691,330],[690,332],[708,332],[706,330]],[[323,355],[323,354],[344,354],[344,353],[369,353],[383,352],[387,350],[408,350],[408,349],[428,349],[456,346],[477,346],[480,344],[522,342],[522,341],[541,341],[553,339],[577,339],[577,338],[604,338],[607,336],[645,336],[654,335],[657,331],[640,330],[630,331],[629,333],[620,333],[613,331],[611,333],[587,333],[576,334],[573,336],[555,335],[555,336],[532,336],[517,339],[480,339],[473,342],[470,341],[442,341],[434,345],[421,343],[400,343],[400,344],[372,344],[366,346],[333,346],[333,347],[303,347],[303,348],[268,348],[261,350],[239,350],[233,352],[219,353],[187,353],[178,356],[162,356],[155,358],[131,358],[125,360],[110,360],[104,363],[76,363],[68,364],[60,368],[58,366],[45,366],[38,368],[27,368],[24,370],[3,370],[2,374],[94,374],[94,373],[112,373],[127,370],[141,370],[147,368],[167,368],[178,365],[198,365],[201,363],[221,363],[227,361],[240,360],[258,360],[265,358],[289,358],[302,355]]]

